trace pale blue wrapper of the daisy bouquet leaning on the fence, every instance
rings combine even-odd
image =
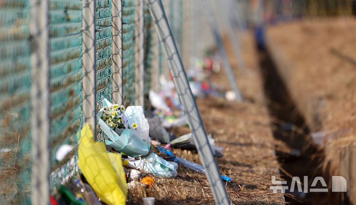
[[[108,100],[106,99],[103,100],[103,105],[102,105],[103,107],[111,106],[111,105],[112,103],[109,102]],[[137,113],[139,113],[138,110],[141,110],[140,112],[141,114],[139,114],[139,116],[137,117],[138,119],[140,119],[142,116],[144,118],[142,107],[140,109],[136,108],[135,110],[137,110]],[[121,132],[121,134],[118,134],[113,129],[111,129],[102,119],[100,119],[102,111],[103,109],[101,109],[98,113],[98,118],[99,118],[98,123],[100,125],[101,130],[107,135],[107,137],[109,137],[109,140],[105,140],[105,143],[107,145],[113,147],[117,151],[123,152],[132,157],[141,157],[148,154],[150,148],[149,141],[148,141],[149,127],[145,128],[146,127],[145,123],[142,122],[142,120],[140,122],[135,122],[139,127],[140,126],[142,127],[141,130],[139,130],[139,127],[137,127],[137,130],[128,129],[127,127],[126,129],[123,129],[123,132]],[[129,113],[133,113],[133,112],[129,112]],[[145,134],[145,129],[147,129],[147,134]],[[147,139],[146,139],[147,141],[143,140],[140,137],[142,136],[144,138],[146,135],[147,135]]]

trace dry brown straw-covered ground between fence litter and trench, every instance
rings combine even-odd
[[[269,117],[263,102],[253,39],[250,34],[244,35],[243,39],[243,57],[247,69],[239,71],[234,59],[231,62],[238,86],[247,100],[236,103],[208,98],[197,99],[197,104],[206,132],[212,133],[216,144],[223,147],[223,157],[216,161],[221,173],[232,178],[232,182],[225,186],[231,204],[284,204],[282,194],[273,194],[269,190],[271,176],[279,178],[278,164]],[[228,89],[223,70],[212,78],[215,83]],[[188,133],[189,129],[178,128],[172,132],[179,136]],[[199,155],[195,151],[173,149],[173,153],[200,164]],[[153,178],[156,181],[153,187],[131,189],[127,204],[142,204],[142,197],[146,196],[156,197],[156,204],[160,205],[214,204],[203,174],[179,167],[175,178]]]

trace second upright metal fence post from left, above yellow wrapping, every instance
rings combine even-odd
[[[95,0],[83,0],[83,125],[93,133],[96,126],[95,83]],[[96,136],[96,135],[94,135]]]

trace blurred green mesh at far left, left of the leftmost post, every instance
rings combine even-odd
[[[0,1],[0,204],[31,202],[30,0]]]

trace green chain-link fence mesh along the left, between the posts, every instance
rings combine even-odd
[[[31,0],[0,1],[0,204],[31,203]],[[95,83],[98,111],[102,100],[112,102],[112,0],[95,0]],[[136,0],[122,1],[122,83],[124,105],[134,105],[135,89],[135,9]],[[154,28],[151,14],[143,7],[143,99],[149,106],[149,91],[159,88],[159,76],[169,76],[166,57]],[[183,62],[201,56],[212,45],[204,11],[197,3],[163,0],[165,11]],[[76,175],[78,131],[83,124],[83,2],[48,0],[49,58],[49,187],[56,193],[60,184]],[[142,5],[141,5],[142,6]],[[46,18],[46,17],[44,17]],[[199,33],[195,30],[201,30]],[[183,32],[184,31],[184,32]],[[207,34],[204,34],[207,33]],[[208,36],[208,37],[207,37]],[[94,40],[94,39],[93,39]],[[203,43],[204,42],[204,43]],[[204,47],[197,48],[202,43]],[[193,49],[192,49],[193,47]],[[139,54],[141,55],[141,54]],[[38,137],[38,136],[36,136]],[[99,131],[97,140],[105,136]],[[63,145],[74,149],[58,161]]]

